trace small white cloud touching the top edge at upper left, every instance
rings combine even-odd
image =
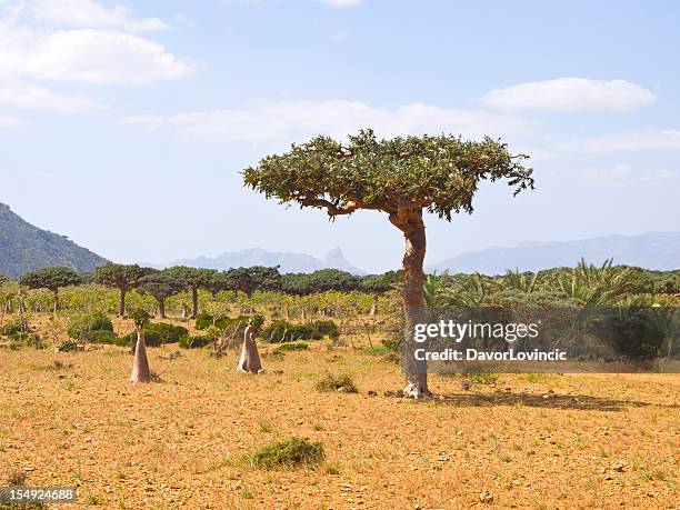
[[[32,6],[38,20],[69,28],[118,28],[130,32],[170,28],[158,18],[136,19],[122,6],[110,9],[91,0],[36,0]]]

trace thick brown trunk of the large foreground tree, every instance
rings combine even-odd
[[[406,373],[404,397],[414,399],[430,396],[428,390],[427,362],[416,359],[416,349],[426,347],[416,342],[413,338],[414,326],[424,322],[424,298],[422,283],[424,272],[422,264],[426,254],[426,231],[422,221],[422,210],[400,210],[390,214],[390,221],[397,226],[406,239],[403,256],[403,313],[404,313],[404,342],[403,370]]]

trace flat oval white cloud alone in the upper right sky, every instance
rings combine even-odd
[[[482,96],[478,102],[502,111],[577,111],[631,110],[654,100],[654,94],[649,90],[623,80],[557,78],[496,89]]]

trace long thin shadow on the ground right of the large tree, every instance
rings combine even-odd
[[[606,397],[591,397],[584,394],[557,393],[457,393],[440,394],[426,400],[440,406],[456,407],[498,407],[498,406],[527,406],[544,409],[564,409],[577,411],[622,411],[627,408],[641,408],[656,406],[663,408],[679,408],[676,404],[654,404],[636,400],[618,400]]]

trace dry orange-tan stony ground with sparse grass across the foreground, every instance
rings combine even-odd
[[[680,504],[680,376],[500,374],[469,389],[432,376],[446,399],[413,401],[383,394],[402,386],[397,364],[327,342],[264,356],[259,376],[238,373],[236,352],[176,350],[150,348],[160,380],[132,386],[123,348],[0,349],[0,476],[120,509]],[[318,391],[326,372],[359,393]],[[249,464],[292,436],[321,441],[324,463]]]

